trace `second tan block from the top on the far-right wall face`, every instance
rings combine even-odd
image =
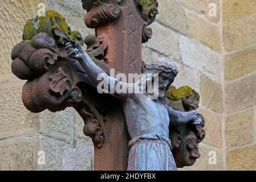
[[[256,14],[223,27],[223,41],[227,51],[256,43]]]

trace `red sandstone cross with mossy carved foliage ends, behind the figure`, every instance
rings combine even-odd
[[[149,24],[156,18],[156,0],[82,0],[88,28],[95,35],[83,39],[71,31],[63,16],[47,11],[46,16],[26,22],[23,42],[13,48],[12,71],[28,80],[23,86],[22,100],[32,112],[45,109],[60,111],[74,107],[84,120],[84,134],[95,146],[96,170],[126,170],[128,142],[133,138],[119,98],[97,93],[88,70],[65,50],[67,43],[87,45],[86,55],[97,67],[109,74],[143,73],[141,43],[152,36]],[[175,72],[175,71],[174,71]],[[168,105],[177,111],[196,110],[199,95],[189,87],[170,88]],[[175,112],[175,111],[174,111]],[[191,166],[200,156],[198,143],[204,138],[204,119],[179,126],[169,126],[172,154],[177,167]],[[170,150],[169,148],[169,150]]]

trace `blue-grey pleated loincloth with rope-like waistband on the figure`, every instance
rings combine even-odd
[[[128,171],[176,171],[169,138],[145,134],[129,142]]]

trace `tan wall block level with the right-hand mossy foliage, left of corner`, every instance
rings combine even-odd
[[[206,108],[216,112],[223,111],[222,85],[213,81],[206,75],[200,76],[201,80],[201,104]]]

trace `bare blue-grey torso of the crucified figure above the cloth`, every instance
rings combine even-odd
[[[169,137],[169,114],[161,101],[133,94],[123,101],[123,109],[131,138],[151,133]]]

